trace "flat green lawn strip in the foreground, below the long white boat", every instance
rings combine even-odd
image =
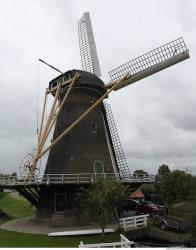
[[[102,239],[101,235],[48,237],[0,229],[0,247],[78,247],[80,241],[84,244],[93,244],[102,242]],[[120,241],[119,232],[106,234],[104,241]]]

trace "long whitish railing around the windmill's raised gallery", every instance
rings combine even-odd
[[[3,176],[0,177],[0,186],[16,185],[50,185],[50,184],[82,184],[93,183],[100,180],[113,180],[123,183],[155,182],[154,175],[127,175],[121,176],[118,173],[78,173],[78,174],[44,174],[34,176],[27,180],[24,176]]]

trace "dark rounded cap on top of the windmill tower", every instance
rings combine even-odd
[[[60,81],[62,78],[64,78],[64,81],[72,79],[77,72],[79,73],[80,77],[76,81],[76,86],[87,86],[91,88],[97,88],[104,92],[106,91],[104,82],[99,77],[90,72],[78,69],[69,70],[64,74],[54,78],[52,81],[49,82],[49,89],[52,89],[53,87],[57,86],[57,82]]]

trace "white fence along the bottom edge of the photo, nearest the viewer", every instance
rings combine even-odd
[[[120,242],[111,242],[111,243],[97,243],[97,244],[83,244],[83,242],[80,242],[80,245],[78,247],[83,248],[101,248],[101,247],[123,247],[123,248],[130,248],[134,241],[129,241],[124,235],[120,234]]]

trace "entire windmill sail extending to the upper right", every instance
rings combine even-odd
[[[125,75],[130,76],[115,89],[117,90],[189,57],[189,51],[181,37],[111,70],[109,76],[112,81],[119,80]],[[106,85],[107,88],[112,86],[113,82]]]

